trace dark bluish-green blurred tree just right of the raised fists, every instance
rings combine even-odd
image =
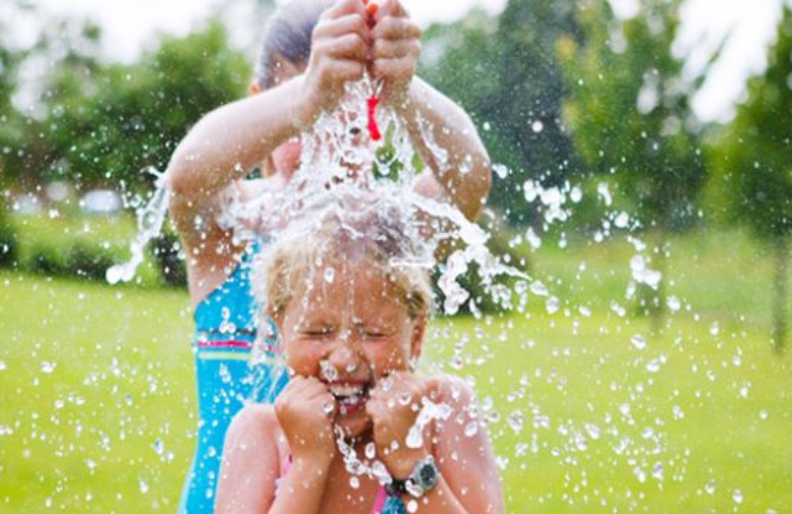
[[[506,166],[497,168],[490,204],[511,223],[527,223],[534,214],[524,200],[525,181],[561,184],[573,161],[554,51],[559,36],[578,37],[573,5],[509,0],[497,19],[474,10],[425,33],[421,74],[470,112],[493,162]]]

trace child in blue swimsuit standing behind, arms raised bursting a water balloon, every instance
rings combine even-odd
[[[469,116],[414,76],[420,36],[398,0],[382,2],[373,17],[362,0],[281,2],[268,22],[252,94],[204,116],[173,154],[169,207],[185,247],[195,305],[200,417],[179,512],[211,512],[230,419],[254,382],[267,386],[271,380],[266,367],[256,380],[249,369],[253,341],[261,338],[251,314],[248,275],[259,245],[241,242],[239,234],[216,222],[223,192],[233,184],[251,198],[284,188],[299,164],[300,130],[320,112],[332,112],[345,83],[368,70],[384,84],[380,105],[405,120],[431,170],[417,191],[455,204],[470,219],[482,208],[491,178],[486,151]],[[447,150],[447,161],[436,162],[428,150],[416,126],[419,116]],[[242,180],[257,166],[265,179]],[[267,389],[274,396],[281,386]]]

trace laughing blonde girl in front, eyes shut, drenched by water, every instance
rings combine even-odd
[[[414,372],[431,289],[385,204],[330,211],[257,262],[291,379],[232,422],[215,512],[504,512],[470,387]],[[441,414],[411,434],[427,405]]]

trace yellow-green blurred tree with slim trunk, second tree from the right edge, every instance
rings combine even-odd
[[[695,223],[706,170],[690,108],[695,84],[680,78],[672,54],[680,2],[641,2],[629,20],[615,18],[607,0],[580,4],[585,44],[558,41],[569,97],[565,120],[575,147],[596,173],[613,177],[643,227],[656,238],[654,266],[665,275],[669,230]],[[664,309],[663,281],[642,291],[642,305]]]

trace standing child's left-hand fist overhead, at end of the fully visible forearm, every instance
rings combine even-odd
[[[360,0],[338,0],[322,13],[314,28],[303,94],[291,112],[296,126],[310,126],[322,110],[332,112],[345,82],[363,78],[371,45],[367,16]]]

